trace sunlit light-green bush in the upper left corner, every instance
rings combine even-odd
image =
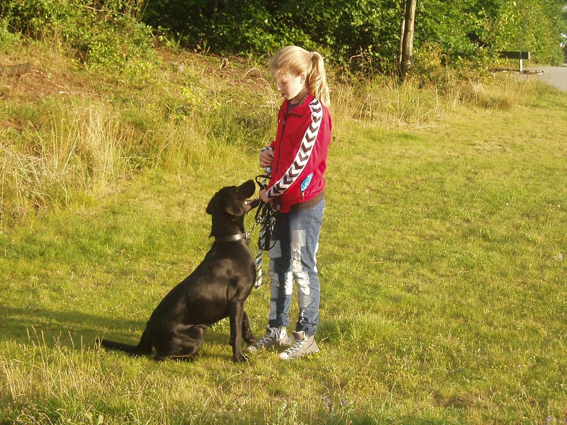
[[[91,5],[88,0],[6,0],[0,16],[14,33],[53,37],[88,67],[148,74],[155,62],[153,31],[137,18],[141,5],[128,0]]]

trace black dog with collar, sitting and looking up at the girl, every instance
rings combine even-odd
[[[244,303],[252,290],[256,269],[244,235],[244,216],[258,204],[257,199],[248,199],[255,189],[254,182],[248,180],[214,194],[206,209],[213,216],[213,246],[193,273],[151,313],[138,345],[105,339],[100,340],[100,345],[130,355],[151,354],[155,348],[155,360],[192,360],[203,343],[207,326],[229,316],[232,360],[246,360],[242,338],[248,344],[255,343],[256,338],[250,330]]]

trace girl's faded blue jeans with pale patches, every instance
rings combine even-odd
[[[289,325],[293,284],[297,286],[299,318],[295,330],[310,337],[319,326],[319,278],[316,254],[325,199],[315,206],[278,213],[269,250],[270,317],[268,326]]]

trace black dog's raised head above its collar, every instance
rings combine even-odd
[[[258,199],[249,199],[256,192],[256,185],[253,180],[248,180],[240,186],[226,186],[209,201],[206,212],[210,215],[227,214],[236,221],[252,208],[258,206]]]

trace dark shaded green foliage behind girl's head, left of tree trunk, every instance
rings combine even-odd
[[[286,44],[319,50],[337,65],[363,62],[386,69],[397,48],[394,0],[208,2],[160,0],[145,20],[162,25],[198,50],[273,53]],[[216,7],[215,7],[216,5]]]

